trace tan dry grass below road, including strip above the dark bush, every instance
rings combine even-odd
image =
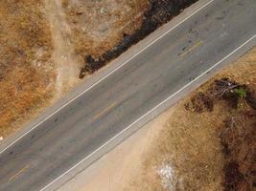
[[[211,87],[214,80],[222,77],[245,84],[255,97],[256,48],[201,86],[191,97],[180,101],[160,136],[153,141],[154,144],[151,145],[145,158],[140,175],[132,180],[127,190],[167,190],[163,188],[157,173],[157,170],[164,164],[171,164],[175,170],[175,181],[173,181],[175,190],[220,191],[224,189],[223,168],[225,162],[230,159],[226,159],[222,153],[220,135],[225,131],[226,119],[233,115],[240,115],[241,111],[231,108],[224,100],[215,101],[212,112],[207,110],[202,110],[199,113],[192,112],[184,107],[185,103],[190,102],[198,92],[205,92]],[[247,124],[254,123],[251,121]],[[248,136],[246,131],[244,134],[246,137]],[[247,144],[247,142],[244,143],[244,145]],[[236,154],[236,158],[241,161],[244,149],[239,152]],[[253,164],[249,163],[250,165]],[[246,167],[242,165],[242,168],[243,172]]]

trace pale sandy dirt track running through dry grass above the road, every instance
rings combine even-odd
[[[79,82],[80,64],[70,42],[71,30],[66,22],[61,0],[44,0],[54,44],[53,60],[57,69],[56,96],[61,96]]]

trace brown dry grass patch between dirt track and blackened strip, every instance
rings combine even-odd
[[[95,57],[120,43],[123,34],[138,30],[148,0],[62,0],[71,27],[71,41],[81,60]]]

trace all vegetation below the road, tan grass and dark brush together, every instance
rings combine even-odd
[[[256,48],[180,101],[127,190],[168,190],[157,173],[165,164],[175,190],[255,189],[255,98]]]

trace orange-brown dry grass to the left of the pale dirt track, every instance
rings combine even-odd
[[[0,2],[0,136],[52,96],[51,33],[40,0]]]

